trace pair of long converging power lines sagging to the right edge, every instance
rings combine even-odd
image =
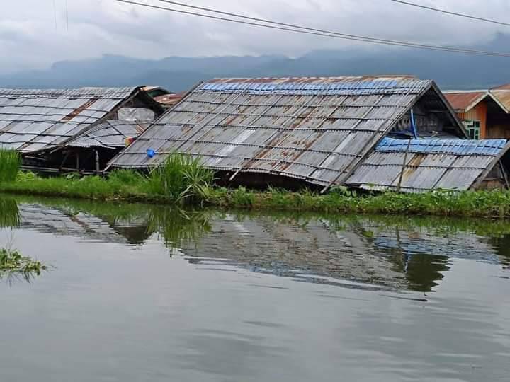
[[[157,1],[164,2],[164,3],[176,4],[179,6],[186,6],[188,8],[195,8],[195,9],[200,9],[202,11],[208,11],[208,12],[212,12],[212,13],[220,13],[220,14],[227,15],[227,16],[234,16],[237,18],[244,18],[244,19],[248,19],[248,20],[252,20],[252,21],[259,21],[262,23],[270,23],[273,25],[254,23],[254,22],[250,22],[250,21],[243,21],[243,20],[237,20],[237,19],[233,19],[233,18],[225,18],[225,17],[220,17],[220,16],[206,15],[203,13],[183,11],[183,10],[179,10],[179,9],[175,9],[175,8],[166,8],[164,6],[157,6],[154,4],[145,4],[145,3],[140,3],[140,2],[132,1],[132,0],[115,0],[115,1],[118,1],[120,3],[125,3],[125,4],[132,4],[132,5],[136,5],[136,6],[145,6],[147,8],[154,8],[154,9],[159,9],[159,10],[163,10],[163,11],[181,13],[181,14],[186,14],[186,15],[190,15],[190,16],[212,18],[214,20],[229,21],[232,23],[239,23],[239,24],[245,24],[245,25],[253,25],[253,26],[262,27],[262,28],[271,28],[274,30],[285,30],[288,32],[293,32],[293,33],[304,33],[307,35],[317,35],[317,36],[322,36],[322,37],[334,37],[334,38],[340,38],[343,40],[355,40],[355,41],[361,41],[361,42],[370,42],[370,43],[379,44],[379,45],[413,47],[413,48],[423,49],[423,50],[437,50],[437,51],[443,51],[443,52],[477,54],[477,55],[494,56],[494,57],[510,57],[510,54],[502,53],[502,52],[487,52],[484,50],[470,50],[470,49],[464,49],[464,48],[460,48],[460,47],[446,47],[446,46],[441,46],[441,45],[424,45],[424,44],[417,44],[414,42],[386,40],[386,39],[379,39],[379,38],[374,38],[374,37],[365,37],[365,36],[360,36],[360,35],[349,35],[349,34],[345,34],[345,33],[331,32],[328,30],[320,30],[320,29],[315,29],[315,28],[307,28],[307,27],[302,27],[300,25],[280,23],[278,21],[270,21],[270,20],[266,20],[263,18],[253,18],[253,17],[249,17],[249,16],[239,15],[237,13],[217,11],[212,8],[191,6],[189,4],[178,3],[176,1],[157,0]],[[276,25],[282,25],[282,26],[276,26]]]

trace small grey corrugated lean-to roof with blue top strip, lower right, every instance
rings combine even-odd
[[[385,138],[346,183],[366,189],[397,190],[402,174],[404,192],[469,190],[506,150],[505,139]]]

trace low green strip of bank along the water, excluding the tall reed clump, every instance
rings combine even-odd
[[[175,202],[166,195],[147,192],[145,183],[122,183],[97,177],[76,179],[29,178],[0,183],[6,195],[36,195],[88,199],[101,202],[171,204],[181,207],[219,207],[325,214],[381,214],[403,216],[457,216],[487,219],[510,218],[510,191],[435,191],[422,194],[383,192],[357,195],[337,190],[326,195],[310,191],[254,191],[244,187],[210,186],[200,195]]]

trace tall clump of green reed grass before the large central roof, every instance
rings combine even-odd
[[[199,158],[174,153],[152,171],[147,188],[149,193],[183,204],[205,199],[213,182],[213,171],[205,168]]]

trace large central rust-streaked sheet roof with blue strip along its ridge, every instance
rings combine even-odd
[[[215,79],[198,85],[111,166],[178,151],[234,173],[341,183],[433,81],[409,76]],[[149,158],[147,149],[157,155]]]

